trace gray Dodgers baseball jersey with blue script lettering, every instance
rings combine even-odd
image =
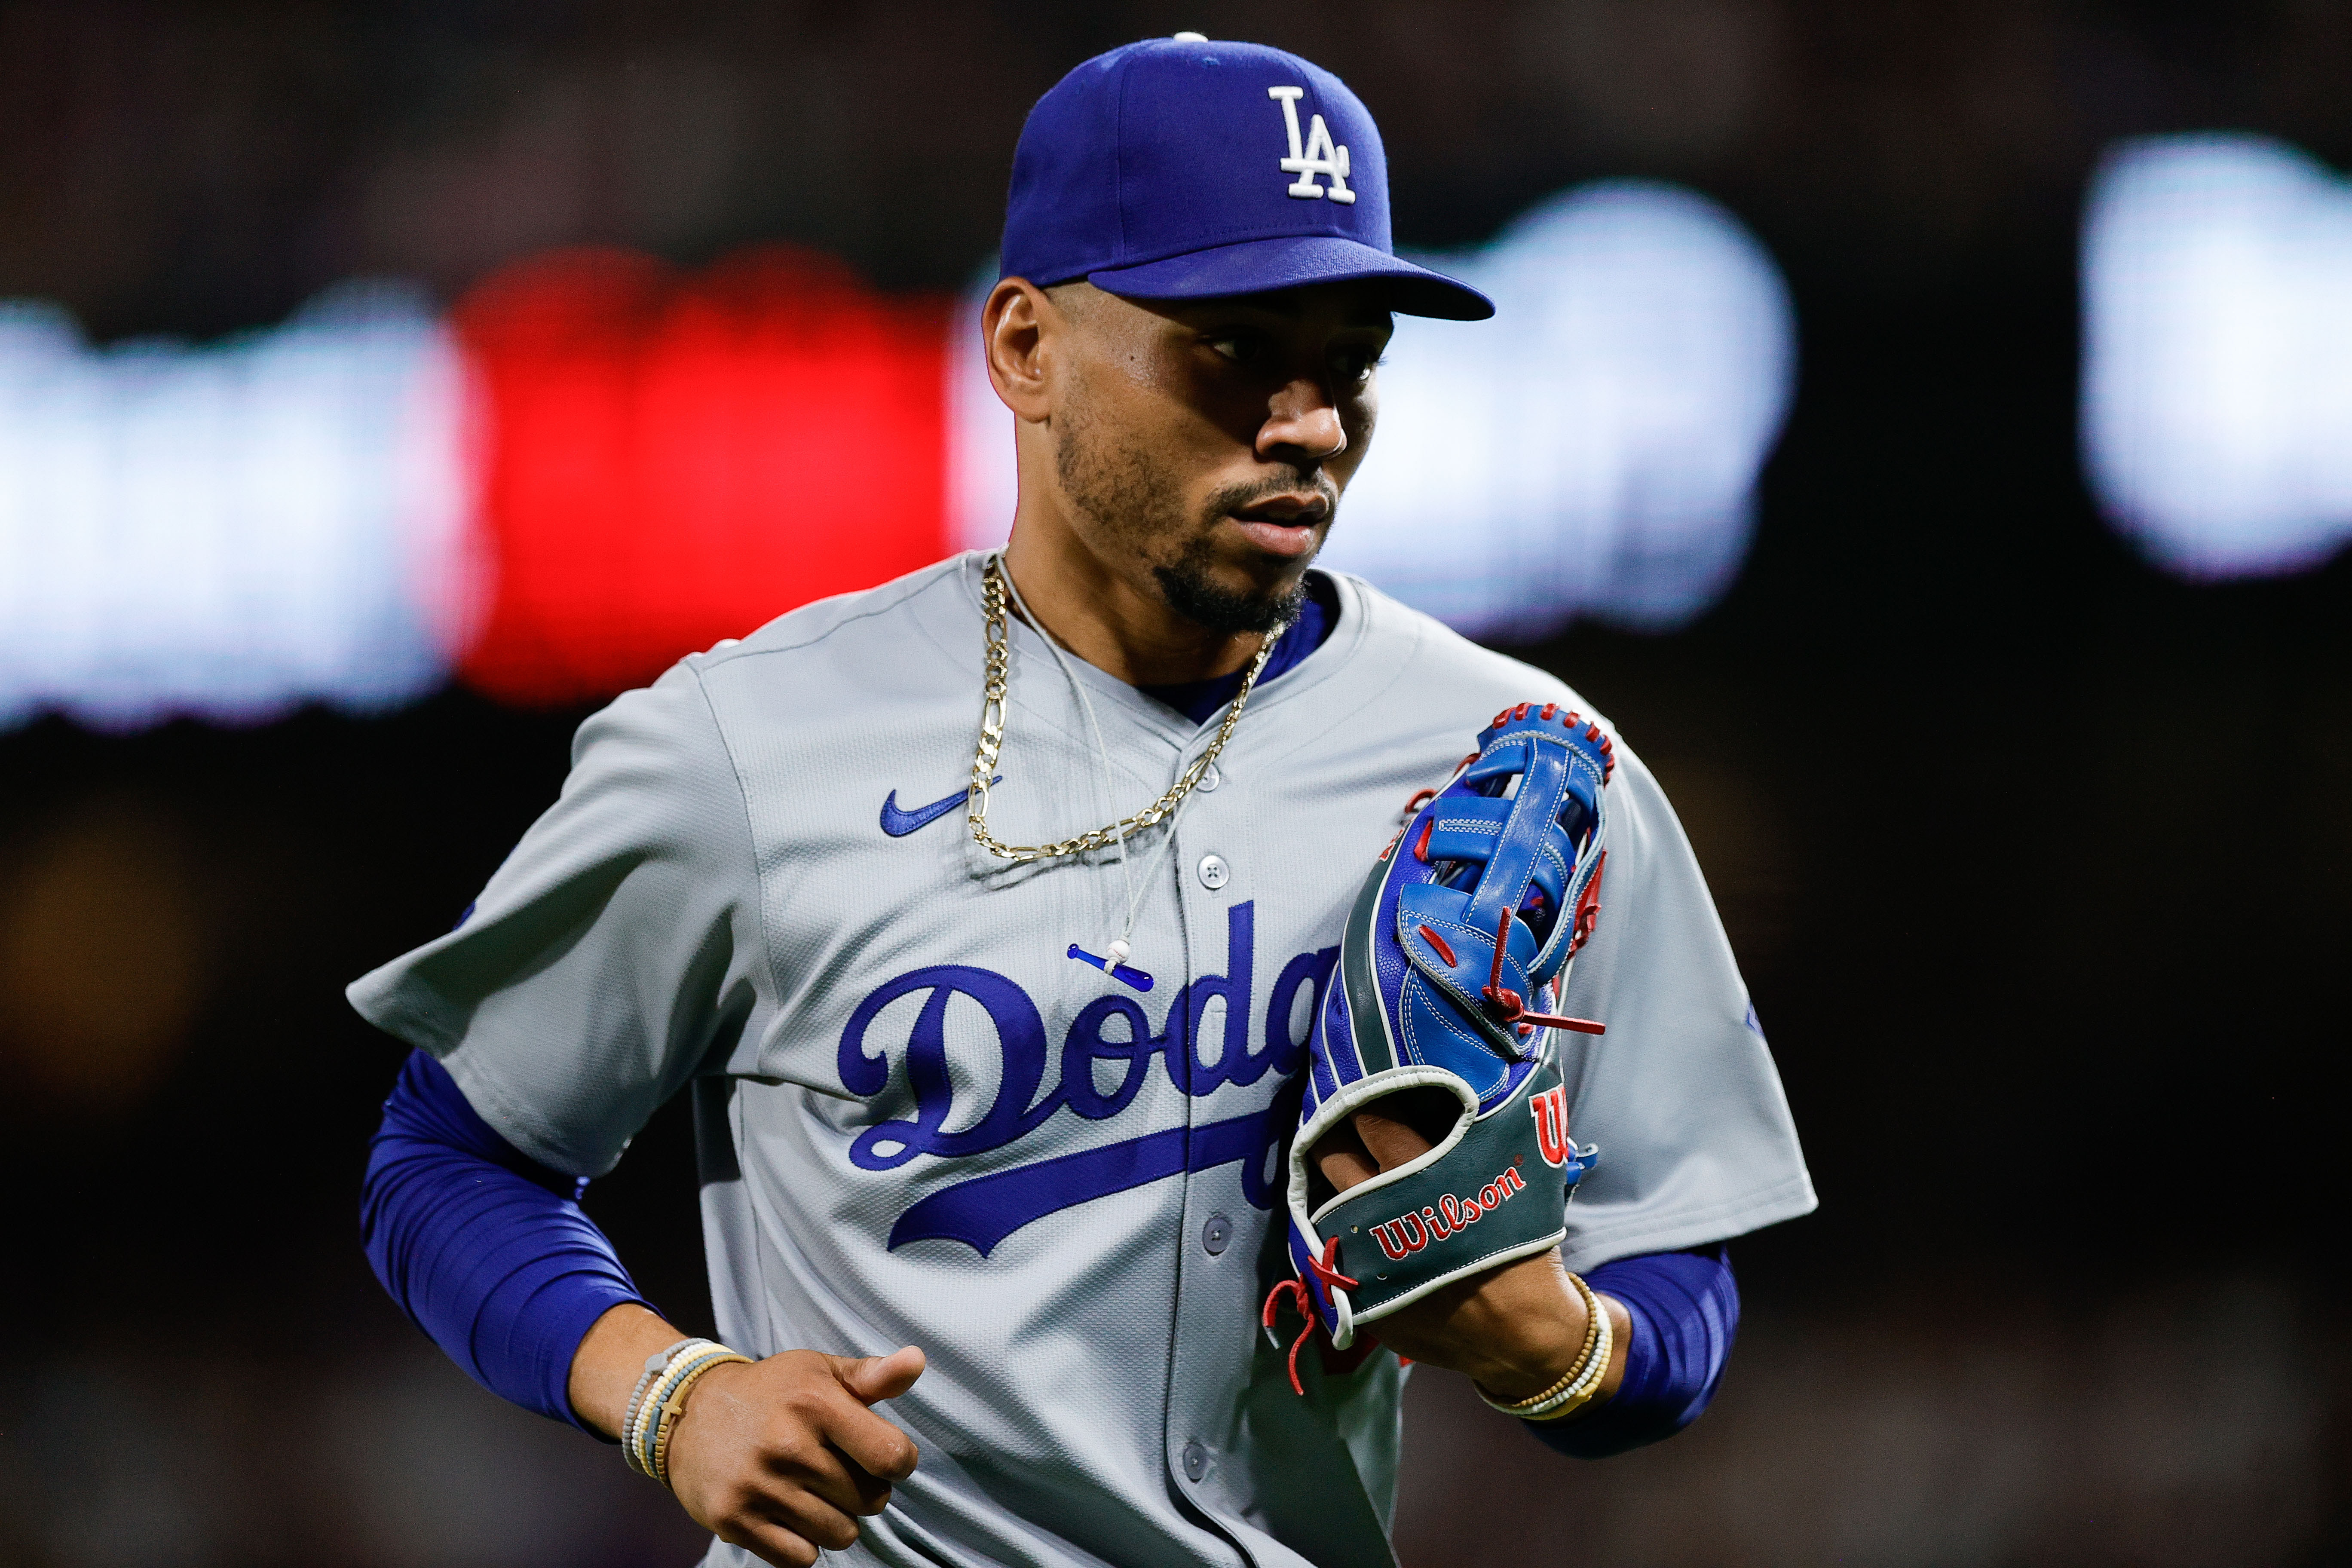
[[[924,1347],[884,1406],[922,1467],[844,1561],[1385,1568],[1404,1371],[1308,1356],[1298,1399],[1258,1333],[1287,1267],[1284,1091],[1406,797],[1508,703],[1590,708],[1336,578],[1338,628],[1127,872],[1009,865],[962,811],[978,562],[797,609],[588,719],[473,919],[350,999],[557,1171],[609,1171],[691,1086],[720,1335]],[[1011,649],[1000,839],[1134,811],[1214,733],[1065,672],[1018,621]],[[1609,1025],[1562,1046],[1573,1133],[1602,1147],[1571,1267],[1813,1206],[1705,882],[1623,741],[1611,790],[1564,999]],[[1120,980],[1070,947],[1117,936],[1129,875]]]

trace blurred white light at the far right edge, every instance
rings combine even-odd
[[[2084,463],[2124,534],[2194,578],[2352,538],[2352,183],[2263,136],[2124,143],[2082,289]]]

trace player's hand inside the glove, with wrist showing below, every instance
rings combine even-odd
[[[1399,1105],[1406,1098],[1390,1095],[1355,1112],[1350,1126],[1315,1145],[1324,1180],[1345,1192],[1428,1154],[1432,1140],[1411,1126],[1411,1107]],[[1623,1302],[1609,1295],[1599,1302],[1616,1340],[1595,1403],[1625,1380],[1632,1340]],[[1585,1302],[1559,1267],[1559,1253],[1543,1253],[1442,1286],[1381,1319],[1378,1335],[1399,1356],[1468,1373],[1496,1399],[1526,1399],[1573,1366],[1585,1342]]]

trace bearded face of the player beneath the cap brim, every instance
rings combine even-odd
[[[1279,625],[1371,442],[1392,329],[1376,289],[1054,296],[1073,329],[1051,421],[1070,527],[1188,621]]]

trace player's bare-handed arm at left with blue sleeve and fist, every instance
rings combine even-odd
[[[475,1382],[616,1441],[644,1359],[684,1335],[581,1211],[586,1185],[508,1145],[416,1051],[383,1105],[360,1222],[376,1279]],[[720,1540],[804,1568],[856,1542],[854,1516],[913,1474],[915,1443],[868,1406],[920,1375],[920,1349],[722,1366],[677,1418],[673,1490]]]

